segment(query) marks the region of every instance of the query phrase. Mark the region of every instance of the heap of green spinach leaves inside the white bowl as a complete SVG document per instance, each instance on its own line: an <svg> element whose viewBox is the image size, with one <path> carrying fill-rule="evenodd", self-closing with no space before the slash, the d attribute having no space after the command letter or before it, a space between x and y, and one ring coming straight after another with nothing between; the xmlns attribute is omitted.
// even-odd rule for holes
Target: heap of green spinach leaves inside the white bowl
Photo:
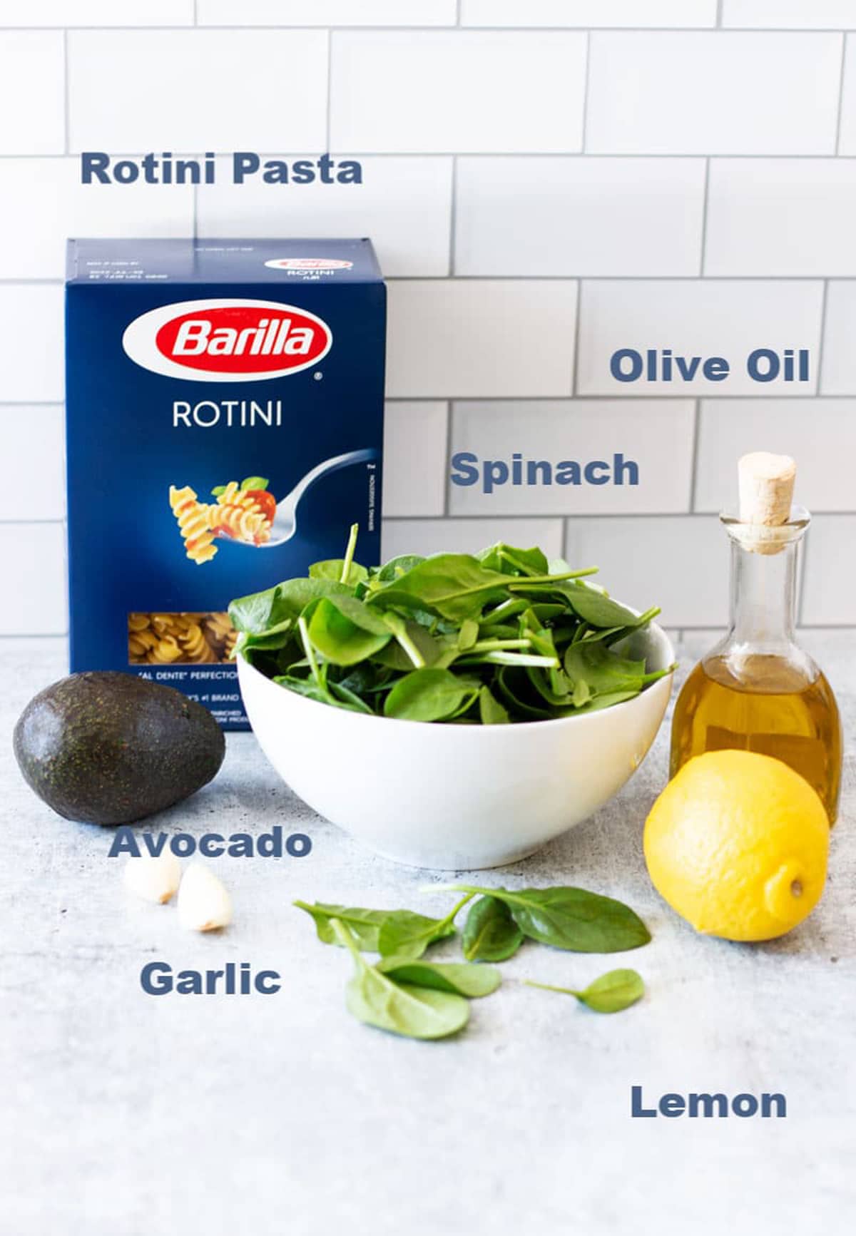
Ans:
<svg viewBox="0 0 856 1236"><path fill-rule="evenodd" d="M238 655L286 690L330 707L440 724L515 724L632 700L649 670L627 638L638 617L537 548L406 554L380 567L345 555L307 577L239 597ZM640 645L643 646L643 645Z"/></svg>

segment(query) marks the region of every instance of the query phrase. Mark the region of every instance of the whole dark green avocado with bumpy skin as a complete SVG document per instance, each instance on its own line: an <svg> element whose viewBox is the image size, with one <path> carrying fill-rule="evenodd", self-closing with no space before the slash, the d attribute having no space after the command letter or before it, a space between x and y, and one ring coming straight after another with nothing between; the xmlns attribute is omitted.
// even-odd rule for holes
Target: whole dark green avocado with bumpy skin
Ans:
<svg viewBox="0 0 856 1236"><path fill-rule="evenodd" d="M212 780L223 730L181 691L130 674L72 674L46 687L15 727L27 784L67 819L127 824Z"/></svg>

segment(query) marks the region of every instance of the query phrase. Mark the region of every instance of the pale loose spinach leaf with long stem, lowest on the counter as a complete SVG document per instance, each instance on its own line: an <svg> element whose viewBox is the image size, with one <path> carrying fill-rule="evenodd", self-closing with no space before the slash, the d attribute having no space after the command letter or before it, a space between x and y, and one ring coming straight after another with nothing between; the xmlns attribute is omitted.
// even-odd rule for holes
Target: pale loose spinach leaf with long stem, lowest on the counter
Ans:
<svg viewBox="0 0 856 1236"><path fill-rule="evenodd" d="M330 926L338 942L354 958L354 976L345 991L348 1011L354 1017L407 1038L445 1038L463 1030L470 1017L464 996L396 981L369 965L339 918L332 918Z"/></svg>

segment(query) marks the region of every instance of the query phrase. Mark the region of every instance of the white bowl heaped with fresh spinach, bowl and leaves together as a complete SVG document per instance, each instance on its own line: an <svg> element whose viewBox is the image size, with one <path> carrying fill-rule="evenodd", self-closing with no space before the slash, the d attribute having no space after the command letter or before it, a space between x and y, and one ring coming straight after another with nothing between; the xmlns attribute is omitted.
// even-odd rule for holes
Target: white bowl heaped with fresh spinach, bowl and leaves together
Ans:
<svg viewBox="0 0 856 1236"><path fill-rule="evenodd" d="M539 549L343 559L233 601L250 723L319 815L416 866L499 866L601 807L653 742L674 654Z"/></svg>

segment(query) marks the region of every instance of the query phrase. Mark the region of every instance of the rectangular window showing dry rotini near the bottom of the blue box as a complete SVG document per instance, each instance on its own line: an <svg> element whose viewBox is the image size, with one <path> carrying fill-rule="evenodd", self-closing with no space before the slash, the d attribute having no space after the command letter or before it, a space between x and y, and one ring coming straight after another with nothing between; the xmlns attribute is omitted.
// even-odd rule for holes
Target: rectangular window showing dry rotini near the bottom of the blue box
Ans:
<svg viewBox="0 0 856 1236"><path fill-rule="evenodd" d="M127 616L131 665L209 665L231 660L238 632L226 613Z"/></svg>

